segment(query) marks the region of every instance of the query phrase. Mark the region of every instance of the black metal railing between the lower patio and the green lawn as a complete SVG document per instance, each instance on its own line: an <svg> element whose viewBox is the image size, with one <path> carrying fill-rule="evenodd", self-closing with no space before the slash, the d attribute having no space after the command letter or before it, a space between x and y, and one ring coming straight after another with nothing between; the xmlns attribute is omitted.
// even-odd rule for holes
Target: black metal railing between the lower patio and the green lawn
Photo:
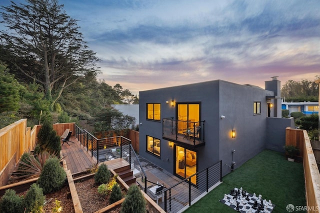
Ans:
<svg viewBox="0 0 320 213"><path fill-rule="evenodd" d="M164 210L166 212L177 212L186 205L191 205L191 201L203 192L208 192L209 188L222 180L222 161L198 171L191 176L181 180L175 185L164 189ZM191 182L191 178L196 178L196 184ZM185 190L185 188L188 190Z"/></svg>

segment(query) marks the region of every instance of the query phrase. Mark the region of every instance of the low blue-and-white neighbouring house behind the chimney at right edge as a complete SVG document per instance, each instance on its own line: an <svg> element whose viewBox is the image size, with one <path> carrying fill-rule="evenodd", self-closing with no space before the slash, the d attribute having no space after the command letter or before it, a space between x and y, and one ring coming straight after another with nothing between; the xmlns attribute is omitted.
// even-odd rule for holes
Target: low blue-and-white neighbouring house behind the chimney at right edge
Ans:
<svg viewBox="0 0 320 213"><path fill-rule="evenodd" d="M303 114L317 114L319 112L319 102L282 102L282 109L288 109L289 113L300 111Z"/></svg>

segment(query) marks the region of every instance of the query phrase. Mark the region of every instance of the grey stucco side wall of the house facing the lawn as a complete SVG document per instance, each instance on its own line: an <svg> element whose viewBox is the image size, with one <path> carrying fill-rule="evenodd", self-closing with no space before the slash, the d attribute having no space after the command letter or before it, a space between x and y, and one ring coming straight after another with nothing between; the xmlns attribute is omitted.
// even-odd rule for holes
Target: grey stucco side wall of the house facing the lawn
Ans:
<svg viewBox="0 0 320 213"><path fill-rule="evenodd" d="M272 91L248 85L239 85L220 81L220 115L225 118L220 122L219 156L222 160L222 175L255 156L265 148L267 103L265 96L273 95ZM260 101L260 114L253 114L253 102ZM231 138L231 130L235 138Z"/></svg>

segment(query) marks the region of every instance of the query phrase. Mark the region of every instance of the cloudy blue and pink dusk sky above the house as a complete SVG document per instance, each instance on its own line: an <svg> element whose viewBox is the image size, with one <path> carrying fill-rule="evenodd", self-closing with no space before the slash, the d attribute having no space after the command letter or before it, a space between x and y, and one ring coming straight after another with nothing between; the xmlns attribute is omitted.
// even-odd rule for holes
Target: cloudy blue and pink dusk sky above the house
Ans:
<svg viewBox="0 0 320 213"><path fill-rule="evenodd" d="M8 5L9 0L0 0ZM22 0L14 2L23 2ZM59 0L111 86L320 75L319 0Z"/></svg>

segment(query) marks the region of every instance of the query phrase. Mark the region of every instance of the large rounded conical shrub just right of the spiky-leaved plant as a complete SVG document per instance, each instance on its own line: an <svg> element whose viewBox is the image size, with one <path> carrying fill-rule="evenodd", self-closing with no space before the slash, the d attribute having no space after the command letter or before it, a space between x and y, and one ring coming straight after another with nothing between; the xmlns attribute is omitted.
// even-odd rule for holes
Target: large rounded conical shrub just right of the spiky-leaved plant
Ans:
<svg viewBox="0 0 320 213"><path fill-rule="evenodd" d="M47 194L61 188L65 177L66 173L60 166L59 159L53 157L45 161L37 183L43 189L43 193Z"/></svg>

